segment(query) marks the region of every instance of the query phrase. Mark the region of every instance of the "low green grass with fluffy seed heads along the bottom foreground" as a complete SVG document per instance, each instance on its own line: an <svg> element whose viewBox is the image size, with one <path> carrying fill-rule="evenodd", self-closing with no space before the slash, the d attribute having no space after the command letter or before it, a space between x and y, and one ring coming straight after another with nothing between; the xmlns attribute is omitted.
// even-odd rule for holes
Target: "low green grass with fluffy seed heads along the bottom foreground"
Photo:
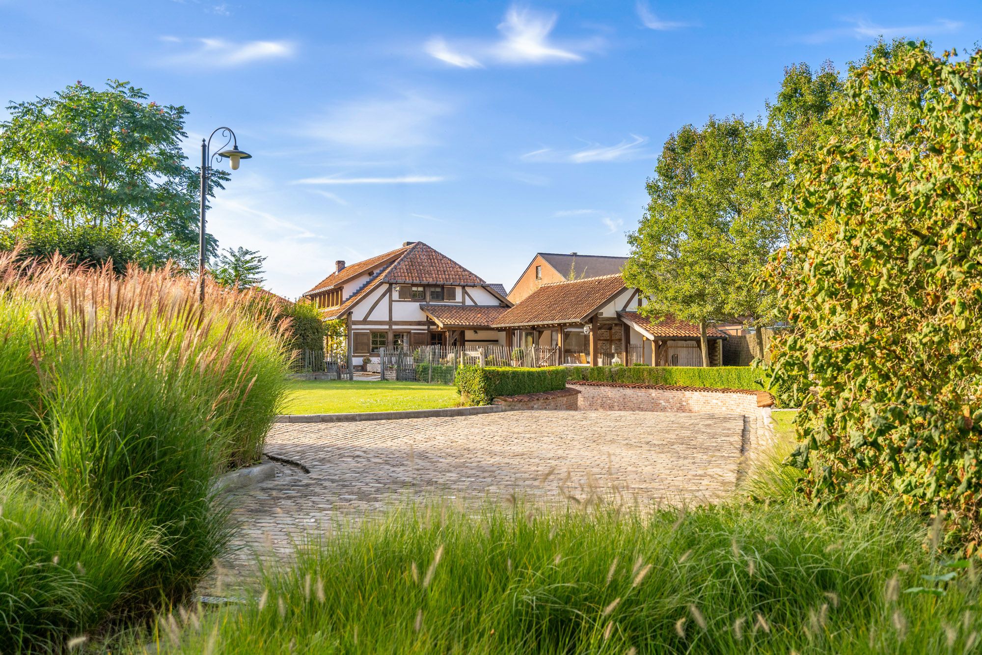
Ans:
<svg viewBox="0 0 982 655"><path fill-rule="evenodd" d="M267 567L241 608L161 618L154 638L211 653L966 652L976 572L932 558L926 533L887 508L409 506Z"/></svg>

